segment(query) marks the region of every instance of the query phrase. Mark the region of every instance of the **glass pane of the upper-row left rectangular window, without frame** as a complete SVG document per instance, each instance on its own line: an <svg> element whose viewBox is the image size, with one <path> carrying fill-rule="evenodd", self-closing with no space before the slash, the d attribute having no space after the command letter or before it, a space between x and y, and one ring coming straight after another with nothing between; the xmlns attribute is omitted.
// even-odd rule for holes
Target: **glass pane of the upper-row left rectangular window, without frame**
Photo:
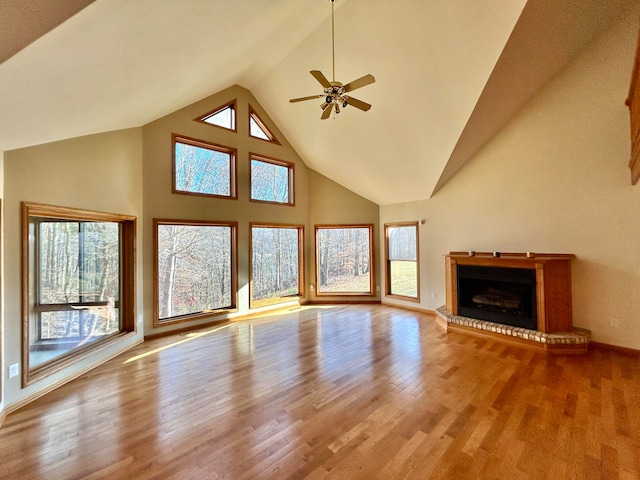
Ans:
<svg viewBox="0 0 640 480"><path fill-rule="evenodd" d="M174 155L177 191L231 196L231 153L176 141Z"/></svg>

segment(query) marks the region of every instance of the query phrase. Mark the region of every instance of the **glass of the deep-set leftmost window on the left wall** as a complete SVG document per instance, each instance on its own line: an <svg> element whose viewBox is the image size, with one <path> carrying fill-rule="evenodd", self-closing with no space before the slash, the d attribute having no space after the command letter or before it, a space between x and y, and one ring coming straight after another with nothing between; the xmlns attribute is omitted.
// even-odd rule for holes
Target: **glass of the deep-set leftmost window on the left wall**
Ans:
<svg viewBox="0 0 640 480"><path fill-rule="evenodd" d="M120 226L41 219L29 364L38 366L121 329Z"/></svg>

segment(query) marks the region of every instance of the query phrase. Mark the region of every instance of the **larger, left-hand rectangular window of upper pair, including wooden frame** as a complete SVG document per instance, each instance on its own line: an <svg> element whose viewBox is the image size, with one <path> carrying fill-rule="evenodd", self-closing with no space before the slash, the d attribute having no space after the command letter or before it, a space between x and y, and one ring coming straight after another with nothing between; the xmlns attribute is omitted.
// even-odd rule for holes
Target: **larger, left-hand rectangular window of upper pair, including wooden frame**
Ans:
<svg viewBox="0 0 640 480"><path fill-rule="evenodd" d="M173 191L236 198L236 151L174 135Z"/></svg>

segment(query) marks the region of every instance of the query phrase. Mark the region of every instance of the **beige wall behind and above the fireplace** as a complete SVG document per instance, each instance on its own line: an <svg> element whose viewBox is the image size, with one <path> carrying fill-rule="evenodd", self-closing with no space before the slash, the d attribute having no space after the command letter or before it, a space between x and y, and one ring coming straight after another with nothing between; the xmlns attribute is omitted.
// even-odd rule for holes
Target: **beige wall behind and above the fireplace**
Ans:
<svg viewBox="0 0 640 480"><path fill-rule="evenodd" d="M640 348L640 187L624 104L636 36L629 16L597 39L434 197L381 207L381 223L426 219L423 307L444 304L448 251L574 253L574 324Z"/></svg>

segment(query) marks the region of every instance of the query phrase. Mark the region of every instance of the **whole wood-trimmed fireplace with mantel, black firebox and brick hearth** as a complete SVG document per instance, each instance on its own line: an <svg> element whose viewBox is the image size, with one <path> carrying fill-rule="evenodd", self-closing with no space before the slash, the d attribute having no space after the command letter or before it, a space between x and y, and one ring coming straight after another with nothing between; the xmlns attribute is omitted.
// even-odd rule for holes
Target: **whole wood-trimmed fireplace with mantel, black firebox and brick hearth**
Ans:
<svg viewBox="0 0 640 480"><path fill-rule="evenodd" d="M590 334L573 327L572 254L450 252L445 330L524 344L547 353L584 353Z"/></svg>

